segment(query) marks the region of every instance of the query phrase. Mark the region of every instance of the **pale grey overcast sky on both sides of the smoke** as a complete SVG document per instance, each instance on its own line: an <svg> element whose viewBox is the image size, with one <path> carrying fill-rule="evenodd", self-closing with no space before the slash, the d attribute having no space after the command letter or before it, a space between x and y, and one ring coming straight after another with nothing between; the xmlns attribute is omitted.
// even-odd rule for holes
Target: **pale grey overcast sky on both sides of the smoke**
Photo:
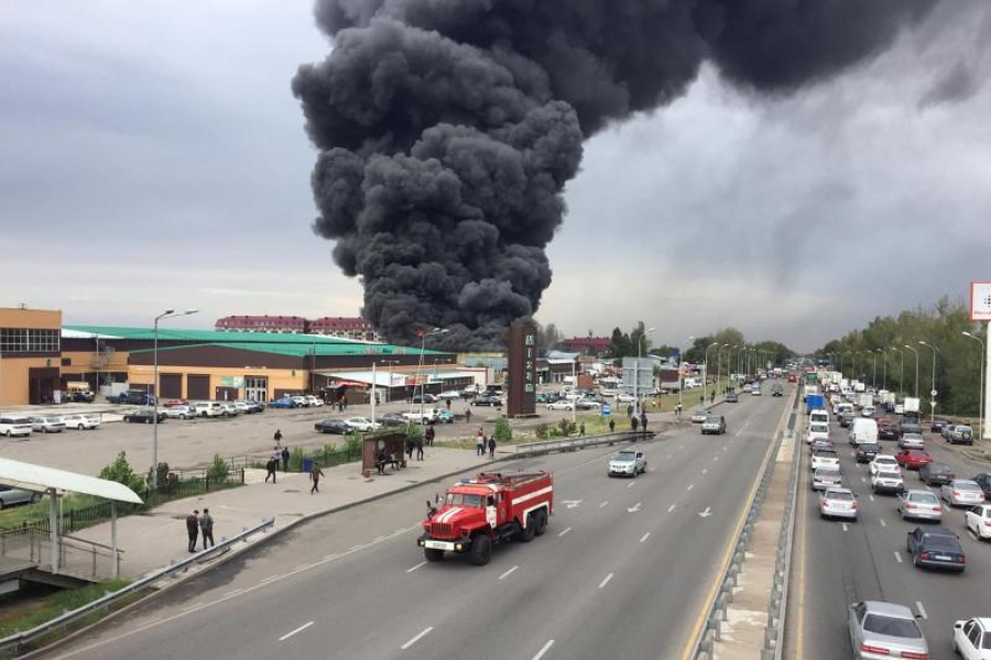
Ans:
<svg viewBox="0 0 991 660"><path fill-rule="evenodd" d="M991 279L991 3L949 6L801 94L707 68L589 141L538 320L643 319L657 343L736 326L803 351ZM309 0L0 0L0 306L358 314L311 231L290 91L328 48Z"/></svg>

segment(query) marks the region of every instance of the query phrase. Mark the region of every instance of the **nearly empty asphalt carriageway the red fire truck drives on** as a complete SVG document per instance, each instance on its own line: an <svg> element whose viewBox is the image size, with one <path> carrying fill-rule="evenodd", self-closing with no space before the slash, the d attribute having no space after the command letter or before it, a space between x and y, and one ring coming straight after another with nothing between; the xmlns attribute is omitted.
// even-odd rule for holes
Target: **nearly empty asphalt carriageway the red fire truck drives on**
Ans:
<svg viewBox="0 0 991 660"><path fill-rule="evenodd" d="M195 578L53 658L678 658L697 625L786 398L723 405L726 436L686 422L609 479L614 448L501 471L555 473L555 514L487 566L426 564L425 485L314 520Z"/></svg>

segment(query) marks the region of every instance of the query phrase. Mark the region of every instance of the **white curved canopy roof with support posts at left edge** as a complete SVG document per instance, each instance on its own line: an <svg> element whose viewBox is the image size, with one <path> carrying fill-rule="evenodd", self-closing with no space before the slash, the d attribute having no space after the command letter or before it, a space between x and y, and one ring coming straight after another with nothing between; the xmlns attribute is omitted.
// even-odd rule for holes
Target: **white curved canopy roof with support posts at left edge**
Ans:
<svg viewBox="0 0 991 660"><path fill-rule="evenodd" d="M48 494L48 529L52 541L52 573L58 573L58 495L85 493L110 501L110 537L113 553L113 578L119 575L120 553L117 548L117 503L142 504L138 494L123 484L106 479L56 470L34 463L0 459L0 484Z"/></svg>

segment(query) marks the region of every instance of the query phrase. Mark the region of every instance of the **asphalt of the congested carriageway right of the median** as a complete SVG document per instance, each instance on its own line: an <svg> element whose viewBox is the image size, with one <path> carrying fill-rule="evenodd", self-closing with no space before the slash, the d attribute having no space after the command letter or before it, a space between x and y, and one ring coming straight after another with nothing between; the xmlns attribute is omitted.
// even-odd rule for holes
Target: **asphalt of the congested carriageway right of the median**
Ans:
<svg viewBox="0 0 991 660"><path fill-rule="evenodd" d="M789 594L787 658L853 658L847 627L847 607L864 600L891 601L922 615L919 625L929 644L930 658L955 658L952 624L957 619L991 615L991 544L966 532L963 510L944 504L941 525L958 532L967 554L962 574L926 571L912 565L905 549L908 531L919 525L903 521L893 495L872 495L867 465L858 465L848 444L847 429L831 426L840 454L845 485L860 501L854 524L819 519L818 498L808 484L799 486L802 515L797 519L795 563ZM885 453L897 453L897 442L882 440ZM950 464L961 479L987 472L939 436L926 433L926 450L937 462ZM808 450L804 452L807 461ZM906 488L925 488L916 472L903 471ZM929 488L938 495L938 487Z"/></svg>

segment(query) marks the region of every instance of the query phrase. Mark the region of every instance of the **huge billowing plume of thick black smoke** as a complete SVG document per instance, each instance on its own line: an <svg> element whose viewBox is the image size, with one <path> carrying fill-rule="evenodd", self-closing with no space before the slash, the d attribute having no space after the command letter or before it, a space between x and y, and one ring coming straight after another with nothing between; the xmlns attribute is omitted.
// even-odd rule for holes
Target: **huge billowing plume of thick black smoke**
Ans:
<svg viewBox="0 0 991 660"><path fill-rule="evenodd" d="M934 2L318 0L334 50L293 80L319 150L314 229L390 340L439 326L449 348L499 345L551 283L584 139L705 61L760 92L834 76Z"/></svg>

